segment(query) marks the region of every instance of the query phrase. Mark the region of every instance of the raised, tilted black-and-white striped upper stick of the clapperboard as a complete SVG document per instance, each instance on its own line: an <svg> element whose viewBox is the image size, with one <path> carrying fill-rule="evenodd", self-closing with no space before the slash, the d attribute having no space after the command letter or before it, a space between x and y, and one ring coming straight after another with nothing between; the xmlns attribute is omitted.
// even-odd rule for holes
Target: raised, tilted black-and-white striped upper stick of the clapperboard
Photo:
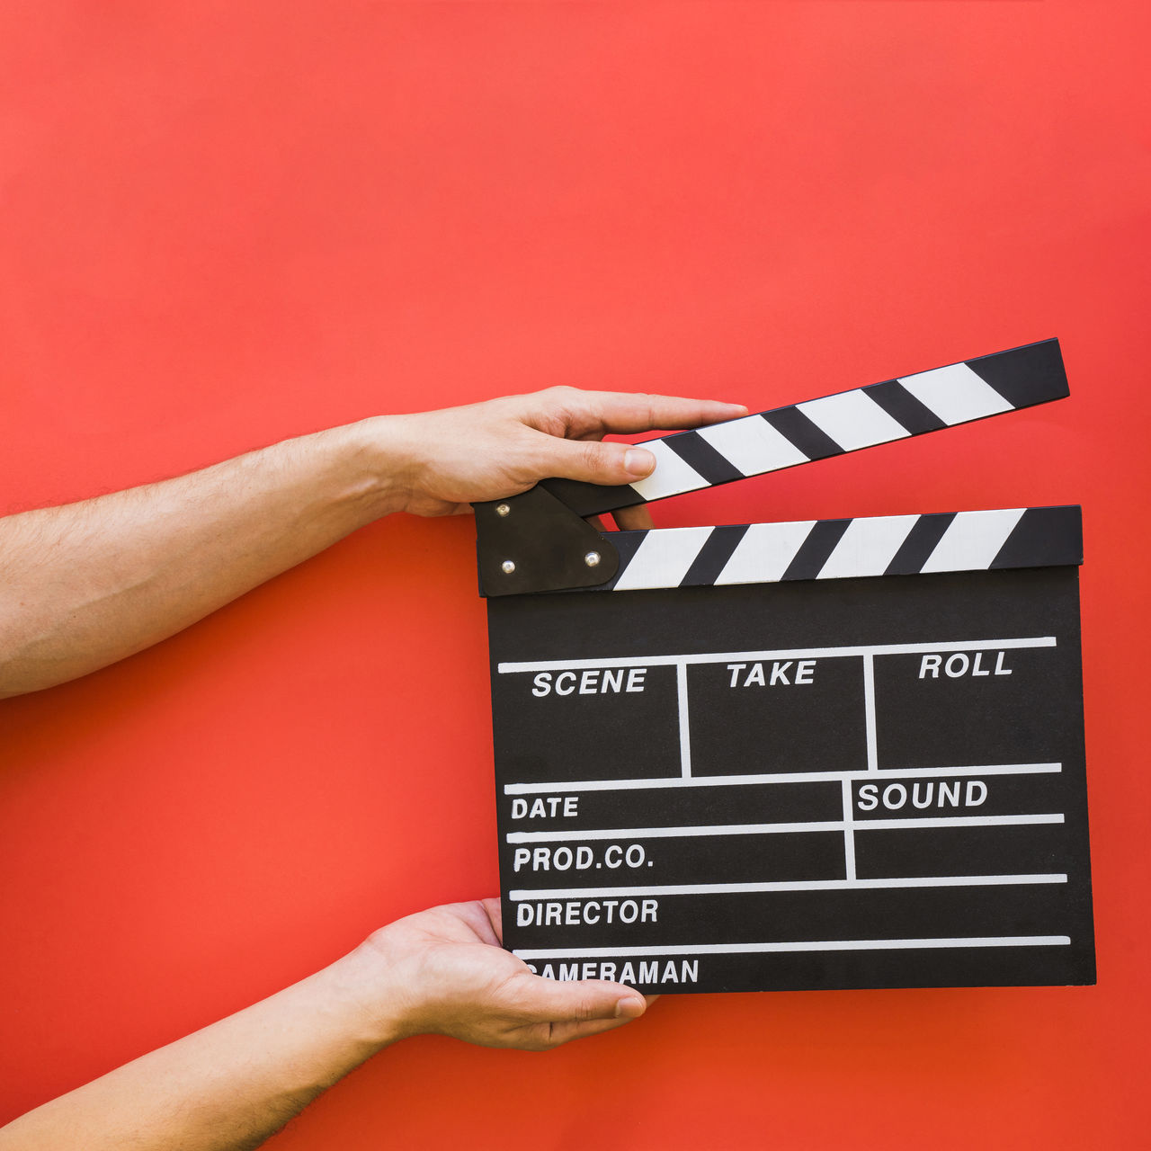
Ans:
<svg viewBox="0 0 1151 1151"><path fill-rule="evenodd" d="M1044 340L695 432L647 440L643 447L655 455L656 468L638 483L597 487L554 479L542 486L578 514L596 516L1067 395L1059 341Z"/></svg>

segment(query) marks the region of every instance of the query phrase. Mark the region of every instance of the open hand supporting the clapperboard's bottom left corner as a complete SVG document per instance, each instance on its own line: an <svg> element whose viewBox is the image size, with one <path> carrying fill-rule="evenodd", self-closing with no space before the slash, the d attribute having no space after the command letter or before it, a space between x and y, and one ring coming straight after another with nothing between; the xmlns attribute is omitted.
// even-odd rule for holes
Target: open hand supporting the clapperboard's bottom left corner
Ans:
<svg viewBox="0 0 1151 1151"><path fill-rule="evenodd" d="M501 940L498 899L433 907L369 936L355 955L381 1034L547 1051L619 1027L655 998L604 980L541 978Z"/></svg>

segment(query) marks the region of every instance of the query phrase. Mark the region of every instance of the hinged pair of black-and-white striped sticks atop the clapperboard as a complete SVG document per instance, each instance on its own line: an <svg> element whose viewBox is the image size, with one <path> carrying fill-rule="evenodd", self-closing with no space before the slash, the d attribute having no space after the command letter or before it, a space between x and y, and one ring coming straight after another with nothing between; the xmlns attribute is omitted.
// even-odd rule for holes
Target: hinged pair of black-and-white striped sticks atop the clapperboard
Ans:
<svg viewBox="0 0 1151 1151"><path fill-rule="evenodd" d="M883 516L602 534L582 517L1061 399L1057 340L643 441L646 480L544 480L477 504L480 592L692 587L1082 562L1078 508Z"/></svg>

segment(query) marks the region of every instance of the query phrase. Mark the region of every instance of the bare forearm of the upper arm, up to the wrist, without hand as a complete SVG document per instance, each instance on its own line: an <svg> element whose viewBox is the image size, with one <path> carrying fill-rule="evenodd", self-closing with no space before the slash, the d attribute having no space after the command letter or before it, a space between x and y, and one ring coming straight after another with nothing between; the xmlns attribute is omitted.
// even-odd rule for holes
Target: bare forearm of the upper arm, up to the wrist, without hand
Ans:
<svg viewBox="0 0 1151 1151"><path fill-rule="evenodd" d="M0 519L0 696L131 655L401 506L387 426Z"/></svg>

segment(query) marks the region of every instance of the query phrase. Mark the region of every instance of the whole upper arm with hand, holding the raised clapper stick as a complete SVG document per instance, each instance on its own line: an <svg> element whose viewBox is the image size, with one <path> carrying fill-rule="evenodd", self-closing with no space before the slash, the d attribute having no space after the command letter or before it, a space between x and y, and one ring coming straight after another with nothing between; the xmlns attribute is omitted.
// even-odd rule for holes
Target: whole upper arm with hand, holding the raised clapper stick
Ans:
<svg viewBox="0 0 1151 1151"><path fill-rule="evenodd" d="M0 698L166 639L389 511L466 511L549 475L630 483L650 474L655 457L597 442L604 434L744 412L552 388L361 420L175 480L0 519ZM633 516L628 526L649 521Z"/></svg>

